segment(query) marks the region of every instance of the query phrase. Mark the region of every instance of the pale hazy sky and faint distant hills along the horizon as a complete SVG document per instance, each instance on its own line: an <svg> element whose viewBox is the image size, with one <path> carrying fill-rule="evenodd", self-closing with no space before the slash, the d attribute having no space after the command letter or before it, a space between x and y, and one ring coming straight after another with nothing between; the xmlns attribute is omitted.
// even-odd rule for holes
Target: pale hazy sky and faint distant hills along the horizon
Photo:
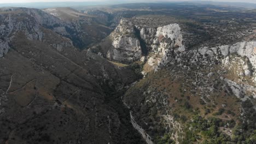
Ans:
<svg viewBox="0 0 256 144"><path fill-rule="evenodd" d="M7 3L6 3L7 2ZM125 4L125 3L152 3L152 2L195 2L197 4L213 4L213 5L229 5L230 7L239 7L246 9L256 9L256 2L247 0L237 3L238 0L1 0L0 7L26 7L26 8L55 8L55 7L81 7L89 5L112 5L112 4ZM224 3L222 3L224 2ZM234 2L234 3L232 3ZM246 3L247 2L247 3ZM251 2L251 3L250 3Z"/></svg>

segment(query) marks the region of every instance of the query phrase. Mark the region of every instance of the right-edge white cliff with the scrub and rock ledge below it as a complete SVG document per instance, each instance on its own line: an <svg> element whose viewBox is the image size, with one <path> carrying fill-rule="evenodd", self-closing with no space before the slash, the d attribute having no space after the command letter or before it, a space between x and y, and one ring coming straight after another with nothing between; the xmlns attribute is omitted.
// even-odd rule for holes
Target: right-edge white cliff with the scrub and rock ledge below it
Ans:
<svg viewBox="0 0 256 144"><path fill-rule="evenodd" d="M222 77L221 80L231 88L232 93L234 93L237 98L245 101L250 95L252 95L253 98L256 97L254 88L256 83L255 44L255 41L243 41L233 45L211 48L201 47L198 50L189 51L190 54L187 53L186 56L191 55L189 61L197 65L208 64L212 66L214 63L220 63L221 68L218 70L218 74L226 77ZM182 60L180 59L179 61ZM213 73L209 73L208 77L212 75Z"/></svg>

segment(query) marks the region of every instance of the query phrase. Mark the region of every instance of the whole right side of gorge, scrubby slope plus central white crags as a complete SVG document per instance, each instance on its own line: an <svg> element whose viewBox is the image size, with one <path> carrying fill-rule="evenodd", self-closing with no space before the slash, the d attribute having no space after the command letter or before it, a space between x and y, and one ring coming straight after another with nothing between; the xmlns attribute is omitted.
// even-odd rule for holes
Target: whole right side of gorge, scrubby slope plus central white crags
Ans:
<svg viewBox="0 0 256 144"><path fill-rule="evenodd" d="M166 25L147 17L122 20L110 36L92 51L112 61L142 64L144 78L123 99L133 127L147 143L253 143L255 41L235 43L237 38L210 47L197 40L201 44L190 47L185 41L193 35L184 23ZM135 59L131 43L115 47L125 37L139 42L139 53L142 47L148 53ZM108 55L109 50L116 52Z"/></svg>

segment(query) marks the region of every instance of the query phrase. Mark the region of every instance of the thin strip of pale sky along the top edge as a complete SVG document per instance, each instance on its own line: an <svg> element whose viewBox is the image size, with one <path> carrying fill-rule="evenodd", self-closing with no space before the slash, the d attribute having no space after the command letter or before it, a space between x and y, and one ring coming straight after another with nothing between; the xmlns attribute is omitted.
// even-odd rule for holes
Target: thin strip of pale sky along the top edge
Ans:
<svg viewBox="0 0 256 144"><path fill-rule="evenodd" d="M30 3L30 2L106 2L111 0L0 0L0 3ZM122 0L120 0L121 2ZM130 0L131 2L137 2L135 0ZM151 0L152 2L156 2L158 0ZM168 1L168 0L165 0ZM191 1L191 0L169 0L169 1ZM201 0L207 1L207 0ZM208 0L209 1L209 0ZM248 2L248 3L256 3L256 0L211 0L216 2ZM149 1L145 1L149 2Z"/></svg>

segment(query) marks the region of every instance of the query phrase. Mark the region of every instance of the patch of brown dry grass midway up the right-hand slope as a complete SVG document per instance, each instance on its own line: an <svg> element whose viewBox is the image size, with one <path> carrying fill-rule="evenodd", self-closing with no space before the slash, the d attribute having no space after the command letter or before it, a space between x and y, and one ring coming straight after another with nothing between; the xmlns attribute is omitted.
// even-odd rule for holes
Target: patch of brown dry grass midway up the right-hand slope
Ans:
<svg viewBox="0 0 256 144"><path fill-rule="evenodd" d="M210 109L211 112L205 115L206 117L218 117L223 120L230 120L237 119L237 116L240 115L240 103L237 103L239 100L234 95L228 95L224 90L214 92L207 97L211 102L202 105L200 104L200 99L204 95L200 94L201 91L199 87L195 87L192 84L193 80L188 80L185 76L173 77L169 75L169 73L170 72L167 70L161 70L155 73L151 84L153 87L157 88L159 92L166 91L164 94L167 94L169 97L168 100L173 113L191 118L193 113L191 113L190 110L186 110L184 107L184 103L187 101L193 106L193 110L198 109L200 111L200 115L205 115L206 109ZM149 75L148 79L152 79L152 76ZM140 85L143 85L143 83L144 82L140 83ZM137 86L139 86L139 83L137 83ZM194 89L197 89L195 94L191 93L191 90ZM222 104L226 104L223 114L219 116L214 115L219 109L223 108ZM235 116L228 114L228 110L234 112Z"/></svg>

